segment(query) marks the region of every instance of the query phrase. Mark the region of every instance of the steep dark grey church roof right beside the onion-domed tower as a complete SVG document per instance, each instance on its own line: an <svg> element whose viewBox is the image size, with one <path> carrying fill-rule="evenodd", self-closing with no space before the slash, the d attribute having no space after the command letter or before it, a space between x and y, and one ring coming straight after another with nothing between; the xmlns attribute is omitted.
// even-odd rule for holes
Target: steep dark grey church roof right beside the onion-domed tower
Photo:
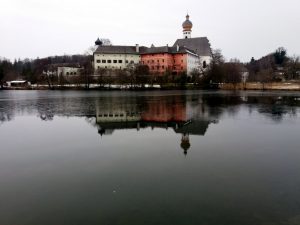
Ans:
<svg viewBox="0 0 300 225"><path fill-rule="evenodd" d="M199 56L212 56L207 37L177 39L173 47L177 45L192 49Z"/></svg>

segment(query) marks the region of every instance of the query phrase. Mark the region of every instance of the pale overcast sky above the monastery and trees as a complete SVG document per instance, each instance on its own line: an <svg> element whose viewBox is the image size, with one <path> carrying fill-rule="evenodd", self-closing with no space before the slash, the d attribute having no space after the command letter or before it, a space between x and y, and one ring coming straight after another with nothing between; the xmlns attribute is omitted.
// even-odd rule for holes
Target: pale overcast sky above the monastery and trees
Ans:
<svg viewBox="0 0 300 225"><path fill-rule="evenodd" d="M283 46L300 54L299 0L0 0L0 56L82 54L97 37L115 45L173 45L190 14L192 37L226 59Z"/></svg>

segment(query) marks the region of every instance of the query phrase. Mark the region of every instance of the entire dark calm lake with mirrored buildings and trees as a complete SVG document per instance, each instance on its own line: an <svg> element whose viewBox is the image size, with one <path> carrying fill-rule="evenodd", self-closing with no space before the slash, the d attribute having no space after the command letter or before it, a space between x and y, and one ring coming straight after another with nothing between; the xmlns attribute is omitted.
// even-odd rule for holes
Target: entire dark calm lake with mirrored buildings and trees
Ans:
<svg viewBox="0 0 300 225"><path fill-rule="evenodd" d="M0 92L1 225L299 225L300 93Z"/></svg>

